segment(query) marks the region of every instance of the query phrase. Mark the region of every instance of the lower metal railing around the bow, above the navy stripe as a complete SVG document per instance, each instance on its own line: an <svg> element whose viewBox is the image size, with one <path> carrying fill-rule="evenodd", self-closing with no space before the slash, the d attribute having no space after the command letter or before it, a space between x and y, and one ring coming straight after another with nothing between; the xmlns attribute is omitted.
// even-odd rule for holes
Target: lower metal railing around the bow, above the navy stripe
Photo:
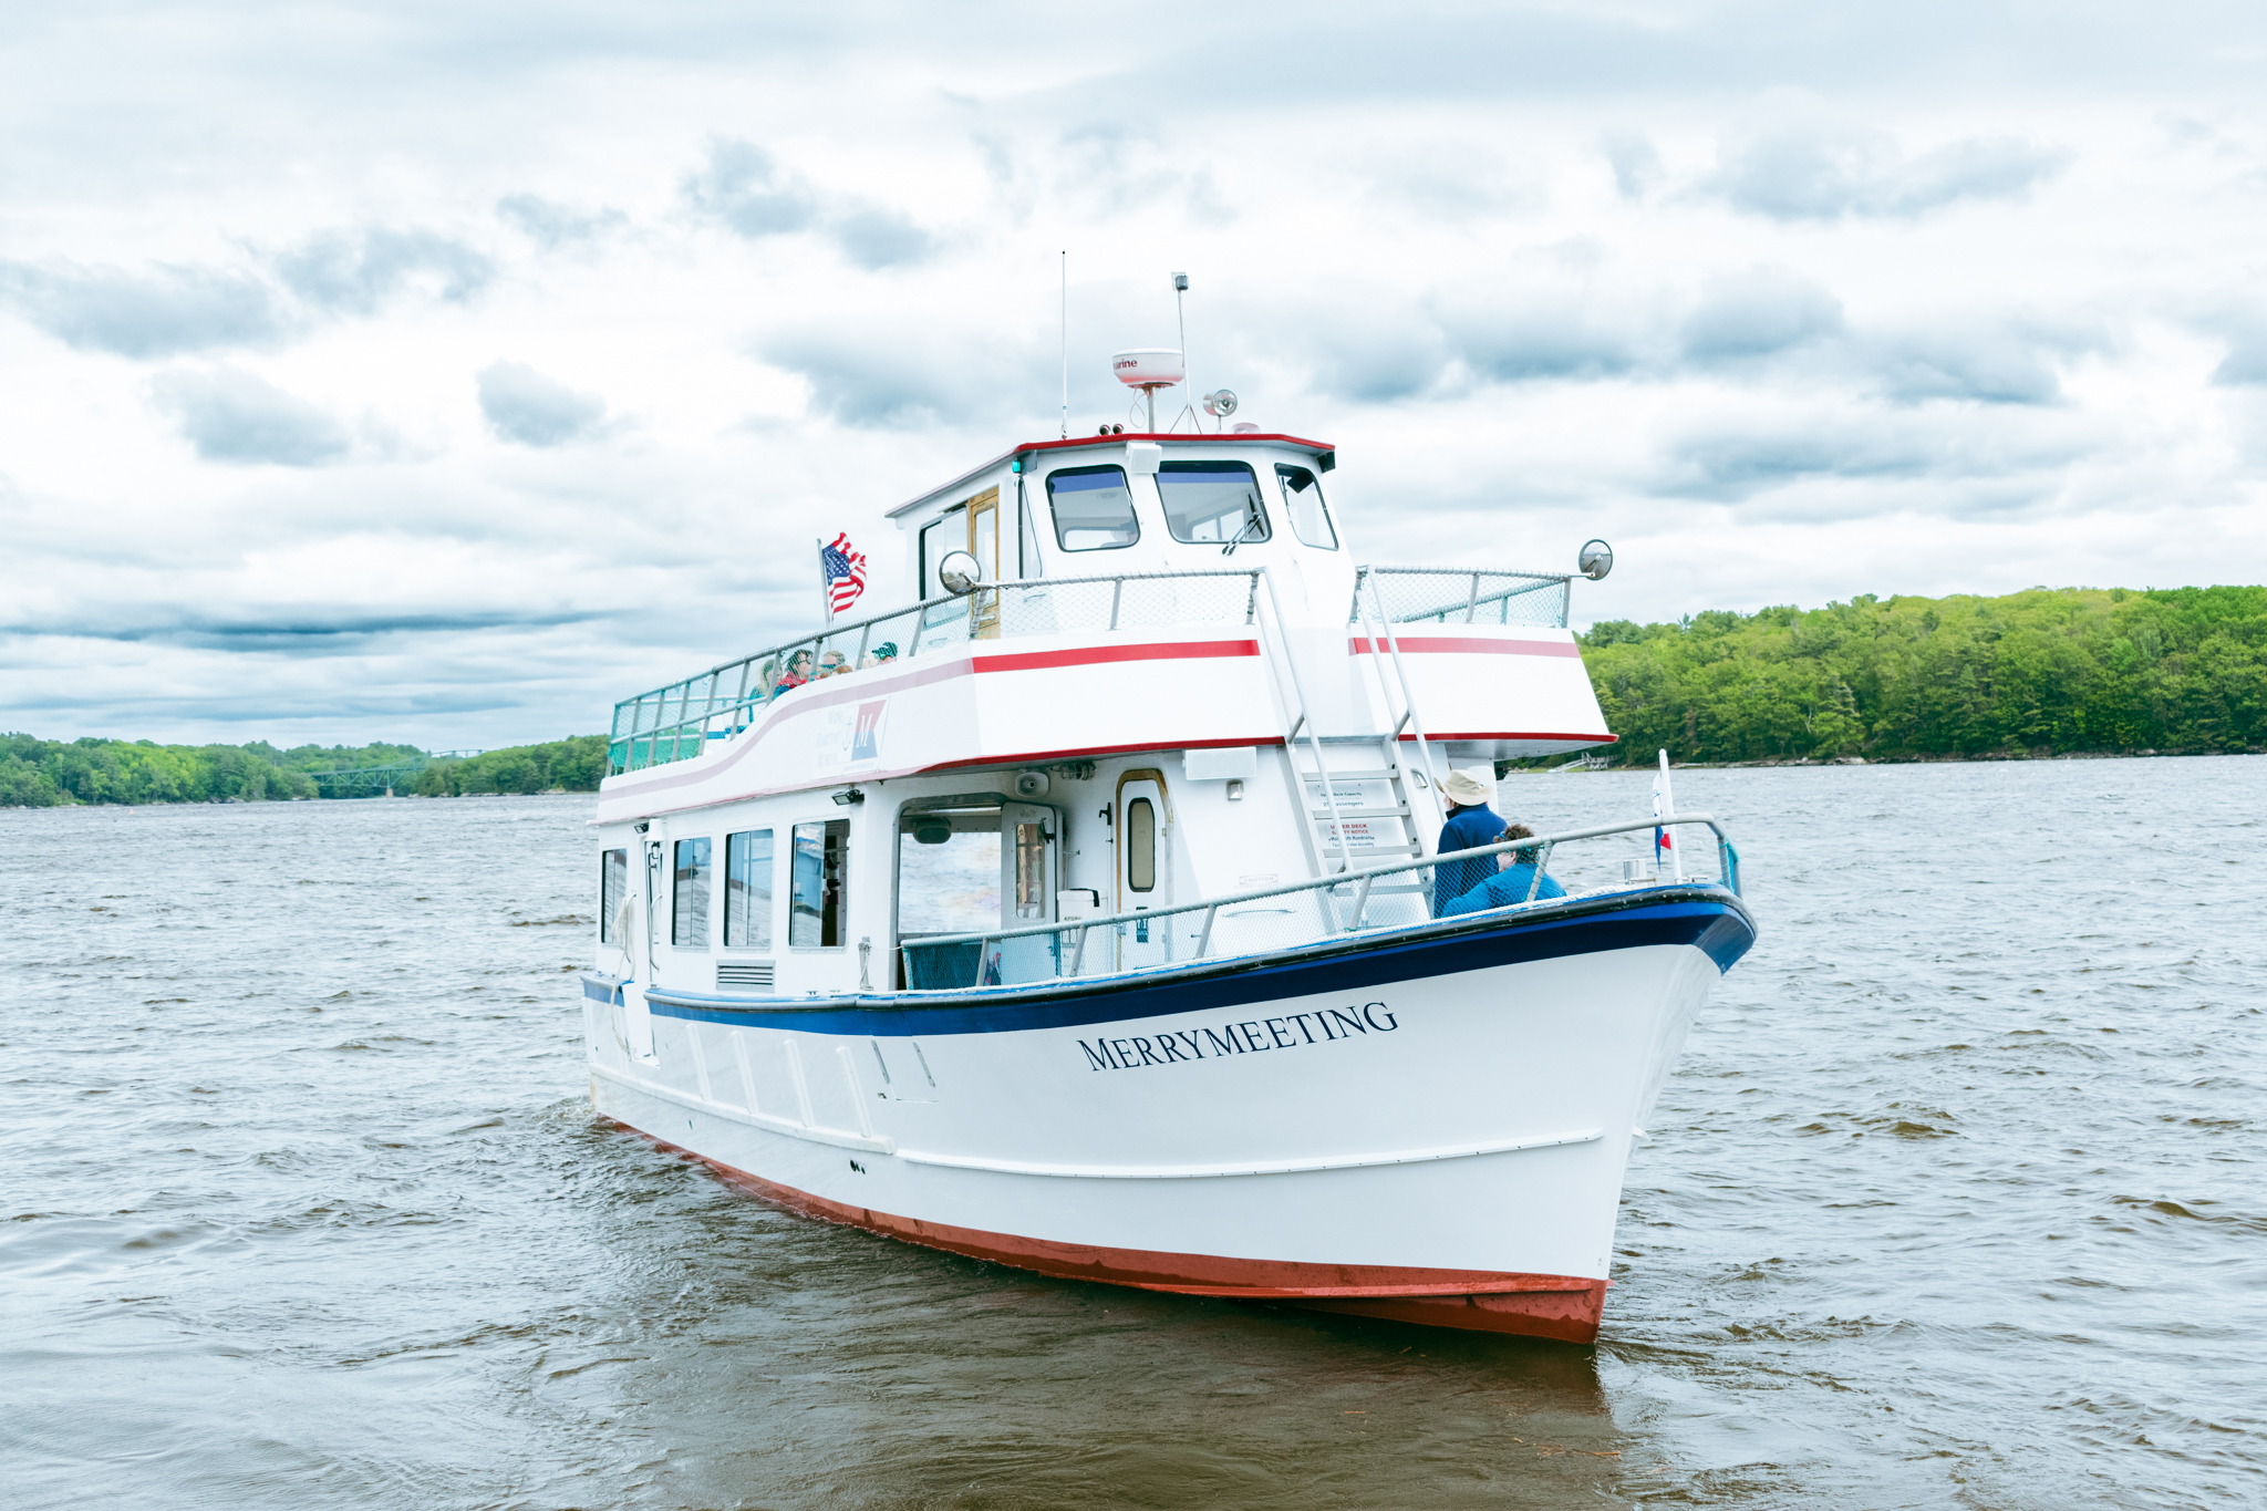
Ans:
<svg viewBox="0 0 2267 1511"><path fill-rule="evenodd" d="M1739 895L1739 852L1723 825L1709 813L1669 813L1539 834L1394 865L1344 870L1317 881L1270 886L1170 908L914 938L902 940L898 949L905 956L905 983L911 990L1031 985L1226 956L1265 956L1351 933L1430 922L1433 874L1442 865L1485 861L1485 874L1478 879L1485 881L1496 872L1494 856L1521 852L1519 859L1532 863L1528 895L1503 908L1517 911L1537 902L1555 847L1616 834L1675 831L1678 827L1705 827L1716 836L1716 874L1691 877L1691 881L1712 881ZM1648 850L1664 854L1657 843ZM1675 856L1678 852L1666 854ZM1644 865L1648 863L1639 861L1632 868L1630 861L1623 861L1621 883L1635 881ZM1666 872L1671 861L1659 865Z"/></svg>

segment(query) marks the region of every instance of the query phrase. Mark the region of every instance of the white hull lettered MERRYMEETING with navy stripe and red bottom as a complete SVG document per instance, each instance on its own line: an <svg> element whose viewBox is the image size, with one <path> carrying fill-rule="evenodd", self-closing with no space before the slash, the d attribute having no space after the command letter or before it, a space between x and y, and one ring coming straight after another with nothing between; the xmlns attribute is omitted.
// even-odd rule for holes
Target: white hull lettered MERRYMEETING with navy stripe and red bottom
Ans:
<svg viewBox="0 0 2267 1511"><path fill-rule="evenodd" d="M596 1110L798 1212L1018 1269L1589 1341L1630 1142L1752 942L1650 888L1050 990L594 983Z"/></svg>

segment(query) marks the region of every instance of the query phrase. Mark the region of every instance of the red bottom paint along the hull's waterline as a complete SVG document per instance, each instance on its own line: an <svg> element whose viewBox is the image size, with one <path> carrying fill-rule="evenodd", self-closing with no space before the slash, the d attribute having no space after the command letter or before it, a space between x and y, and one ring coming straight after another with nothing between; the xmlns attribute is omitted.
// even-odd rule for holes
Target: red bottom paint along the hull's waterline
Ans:
<svg viewBox="0 0 2267 1511"><path fill-rule="evenodd" d="M621 1124L628 1126L628 1124ZM1156 1253L1147 1248L1099 1248L1090 1244L1052 1244L1013 1232L954 1228L918 1217L898 1217L871 1207L850 1207L825 1196L778 1185L719 1160L655 1139L662 1149L701 1160L732 1185L805 1217L846 1223L905 1239L925 1248L991 1260L1013 1269L1056 1275L1059 1280L1095 1280L1140 1291L1174 1291L1179 1296L1220 1296L1229 1300L1272 1300L1317 1312L1351 1312L1383 1316L1396 1323L1428 1328L1464 1328L1469 1332L1508 1332L1562 1343L1594 1343L1598 1316L1605 1312L1607 1280L1578 1275L1523 1275L1474 1269L1419 1269L1403 1264L1308 1264L1299 1260L1229 1260L1222 1255Z"/></svg>

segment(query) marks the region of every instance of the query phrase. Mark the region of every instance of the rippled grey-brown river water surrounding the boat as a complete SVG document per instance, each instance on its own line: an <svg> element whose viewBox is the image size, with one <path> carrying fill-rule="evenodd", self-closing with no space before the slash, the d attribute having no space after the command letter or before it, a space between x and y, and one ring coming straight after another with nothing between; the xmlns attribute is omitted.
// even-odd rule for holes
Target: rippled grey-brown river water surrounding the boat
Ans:
<svg viewBox="0 0 2267 1511"><path fill-rule="evenodd" d="M596 1124L587 800L0 813L7 1502L2267 1500L2267 759L1678 797L1764 940L1596 1350L1038 1280Z"/></svg>

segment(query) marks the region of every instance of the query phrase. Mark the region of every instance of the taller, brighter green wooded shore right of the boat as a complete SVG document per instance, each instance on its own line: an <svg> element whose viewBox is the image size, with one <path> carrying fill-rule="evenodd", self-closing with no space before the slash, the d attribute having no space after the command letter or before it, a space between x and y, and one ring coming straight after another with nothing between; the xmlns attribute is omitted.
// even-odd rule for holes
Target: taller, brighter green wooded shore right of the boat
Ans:
<svg viewBox="0 0 2267 1511"><path fill-rule="evenodd" d="M1639 763L2267 745L2267 587L1861 594L1580 639Z"/></svg>

